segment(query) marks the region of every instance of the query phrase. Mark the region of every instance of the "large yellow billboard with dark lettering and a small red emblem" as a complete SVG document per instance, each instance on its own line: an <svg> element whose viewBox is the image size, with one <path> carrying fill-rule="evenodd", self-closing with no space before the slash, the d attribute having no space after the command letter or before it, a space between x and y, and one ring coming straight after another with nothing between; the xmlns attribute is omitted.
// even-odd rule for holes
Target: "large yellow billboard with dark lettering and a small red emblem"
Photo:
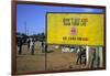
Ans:
<svg viewBox="0 0 110 76"><path fill-rule="evenodd" d="M47 13L47 44L103 45L103 14Z"/></svg>

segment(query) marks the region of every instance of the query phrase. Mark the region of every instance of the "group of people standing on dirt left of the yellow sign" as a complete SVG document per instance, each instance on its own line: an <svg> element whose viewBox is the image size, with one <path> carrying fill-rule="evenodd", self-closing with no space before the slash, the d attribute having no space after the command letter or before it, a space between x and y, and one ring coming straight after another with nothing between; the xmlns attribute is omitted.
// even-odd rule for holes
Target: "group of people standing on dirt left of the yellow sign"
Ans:
<svg viewBox="0 0 110 76"><path fill-rule="evenodd" d="M28 44L28 51L31 51L31 54L34 55L35 39L28 39L26 44ZM18 42L19 54L22 54L22 46L23 46L23 42L22 42L22 39L20 39L20 41ZM41 48L42 48L42 53L45 53L45 42L44 41L41 42Z"/></svg>

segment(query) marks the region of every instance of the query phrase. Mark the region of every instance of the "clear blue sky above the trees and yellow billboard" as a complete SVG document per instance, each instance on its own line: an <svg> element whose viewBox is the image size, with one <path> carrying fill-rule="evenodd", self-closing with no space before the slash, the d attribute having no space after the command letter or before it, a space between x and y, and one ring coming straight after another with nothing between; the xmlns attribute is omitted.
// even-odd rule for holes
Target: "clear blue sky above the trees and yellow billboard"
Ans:
<svg viewBox="0 0 110 76"><path fill-rule="evenodd" d="M16 4L16 32L33 35L45 33L46 12L102 13L102 9ZM26 31L25 31L26 30Z"/></svg>

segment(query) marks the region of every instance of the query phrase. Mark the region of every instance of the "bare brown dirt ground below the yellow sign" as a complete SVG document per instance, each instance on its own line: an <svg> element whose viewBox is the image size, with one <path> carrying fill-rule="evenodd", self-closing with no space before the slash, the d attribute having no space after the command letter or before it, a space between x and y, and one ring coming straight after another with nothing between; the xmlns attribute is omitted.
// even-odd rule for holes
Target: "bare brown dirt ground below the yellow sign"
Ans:
<svg viewBox="0 0 110 76"><path fill-rule="evenodd" d="M53 52L41 52L41 43L35 43L35 53L31 55L31 51L28 50L28 45L23 45L22 54L18 54L16 68L18 73L28 72L44 72L45 63L46 70L67 70L67 69L80 69L86 68L85 64L76 65L77 55L73 53L63 53L59 48Z"/></svg>

